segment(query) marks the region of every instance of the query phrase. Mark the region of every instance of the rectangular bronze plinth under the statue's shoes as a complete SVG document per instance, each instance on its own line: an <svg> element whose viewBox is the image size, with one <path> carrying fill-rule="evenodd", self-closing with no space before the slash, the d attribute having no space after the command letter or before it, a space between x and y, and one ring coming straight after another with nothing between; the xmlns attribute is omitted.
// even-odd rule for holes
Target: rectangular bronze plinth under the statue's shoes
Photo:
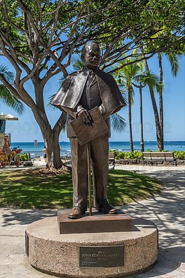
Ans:
<svg viewBox="0 0 185 278"><path fill-rule="evenodd" d="M69 219L66 214L58 213L60 234L106 233L131 231L132 219L126 214L105 214Z"/></svg>

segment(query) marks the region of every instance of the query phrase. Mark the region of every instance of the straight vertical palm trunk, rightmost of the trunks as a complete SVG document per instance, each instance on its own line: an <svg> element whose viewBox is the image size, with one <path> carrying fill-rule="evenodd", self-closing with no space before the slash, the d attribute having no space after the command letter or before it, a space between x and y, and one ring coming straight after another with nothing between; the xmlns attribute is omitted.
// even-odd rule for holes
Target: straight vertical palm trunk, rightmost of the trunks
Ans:
<svg viewBox="0 0 185 278"><path fill-rule="evenodd" d="M159 114L160 114L160 127L161 127L161 150L164 150L164 118L163 118L163 68L162 68L162 56L158 53L159 72L160 72L160 91L159 91Z"/></svg>

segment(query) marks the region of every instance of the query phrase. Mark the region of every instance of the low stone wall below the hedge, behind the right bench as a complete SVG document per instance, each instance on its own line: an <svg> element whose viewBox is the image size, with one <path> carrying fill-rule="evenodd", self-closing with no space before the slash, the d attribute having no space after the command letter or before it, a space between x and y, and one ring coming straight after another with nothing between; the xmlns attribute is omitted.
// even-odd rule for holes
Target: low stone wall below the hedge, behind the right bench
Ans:
<svg viewBox="0 0 185 278"><path fill-rule="evenodd" d="M123 164L123 165L132 165L132 164L141 164L141 165L173 165L171 161L143 161L142 159L116 159L116 164ZM177 165L185 165L185 160L176 160ZM175 165L175 163L174 163Z"/></svg>

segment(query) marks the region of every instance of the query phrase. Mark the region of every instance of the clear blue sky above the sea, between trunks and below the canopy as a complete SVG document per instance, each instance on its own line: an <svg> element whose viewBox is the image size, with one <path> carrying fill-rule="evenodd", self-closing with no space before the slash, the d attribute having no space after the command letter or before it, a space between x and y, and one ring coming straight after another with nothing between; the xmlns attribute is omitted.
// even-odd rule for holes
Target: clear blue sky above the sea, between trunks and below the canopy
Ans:
<svg viewBox="0 0 185 278"><path fill-rule="evenodd" d="M150 70L159 74L157 57L148 60ZM7 64L10 70L13 70L9 61L0 56L0 64ZM170 65L165 56L163 56L163 74L165 88L163 93L164 101L164 140L165 141L183 141L184 140L184 105L185 105L185 57L180 58L180 69L176 77L173 77L170 71ZM48 103L48 97L55 94L58 90L58 78L60 74L49 80L44 88L44 100ZM33 96L33 86L30 81L27 82L25 88ZM156 94L158 103L158 95ZM1 101L1 100L0 100ZM154 122L154 113L150 99L149 89L147 87L143 90L143 118L144 118L144 140L156 141L156 131ZM17 113L12 109L2 104L0 106L0 113L11 113L17 116ZM51 110L47 108L47 114L52 126L54 126L60 111ZM128 109L123 108L120 115L124 117L128 123ZM7 132L12 133L12 142L43 142L42 135L37 125L34 116L29 107L25 106L25 112L22 116L18 116L19 121L10 121L7 124ZM132 107L132 128L133 141L140 141L140 104L138 89L135 90L134 105ZM111 141L129 141L128 124L124 132L112 132ZM68 141L65 133L60 134L60 141Z"/></svg>

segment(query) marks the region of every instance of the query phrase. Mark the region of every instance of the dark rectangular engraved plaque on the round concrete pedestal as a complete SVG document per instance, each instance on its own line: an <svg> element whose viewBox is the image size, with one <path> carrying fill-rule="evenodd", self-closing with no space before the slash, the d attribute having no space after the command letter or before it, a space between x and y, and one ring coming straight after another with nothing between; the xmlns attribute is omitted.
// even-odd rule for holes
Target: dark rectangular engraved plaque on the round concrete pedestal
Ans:
<svg viewBox="0 0 185 278"><path fill-rule="evenodd" d="M80 267L115 267L124 265L124 245L80 246Z"/></svg>

